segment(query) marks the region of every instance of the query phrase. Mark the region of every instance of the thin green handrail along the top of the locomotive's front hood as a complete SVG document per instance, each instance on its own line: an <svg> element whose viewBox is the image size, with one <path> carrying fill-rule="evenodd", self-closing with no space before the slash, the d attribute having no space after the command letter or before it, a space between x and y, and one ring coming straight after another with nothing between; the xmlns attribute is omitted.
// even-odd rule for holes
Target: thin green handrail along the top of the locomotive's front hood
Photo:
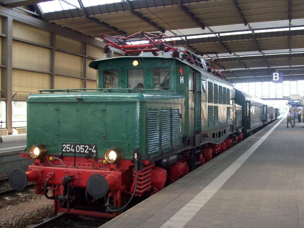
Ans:
<svg viewBox="0 0 304 228"><path fill-rule="evenodd" d="M127 91L127 92L175 92L174 90L155 90L155 89L123 89L123 88L97 88L97 89L91 89L91 88L79 88L79 89L40 89L38 90L40 93L42 92L80 92L80 90L97 90L96 92L111 92L111 91Z"/></svg>

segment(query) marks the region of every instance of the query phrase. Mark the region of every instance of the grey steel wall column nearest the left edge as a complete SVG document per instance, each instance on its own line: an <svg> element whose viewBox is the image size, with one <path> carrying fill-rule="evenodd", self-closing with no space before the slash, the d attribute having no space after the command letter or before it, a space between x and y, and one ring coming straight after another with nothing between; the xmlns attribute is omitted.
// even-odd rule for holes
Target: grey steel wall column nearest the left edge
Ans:
<svg viewBox="0 0 304 228"><path fill-rule="evenodd" d="M1 63L6 67L1 68L1 96L6 100L6 128L8 134L13 133L13 18L2 18L2 33L6 34L6 37L2 37L2 53Z"/></svg>

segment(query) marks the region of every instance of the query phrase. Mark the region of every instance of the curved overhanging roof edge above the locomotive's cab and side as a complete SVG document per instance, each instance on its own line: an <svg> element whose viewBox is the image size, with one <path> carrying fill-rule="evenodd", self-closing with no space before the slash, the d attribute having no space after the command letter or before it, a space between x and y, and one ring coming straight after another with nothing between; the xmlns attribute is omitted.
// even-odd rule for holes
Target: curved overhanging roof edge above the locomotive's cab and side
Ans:
<svg viewBox="0 0 304 228"><path fill-rule="evenodd" d="M165 56L119 56L119 57L112 57L112 58L104 58L104 59L100 59L100 60L94 60L92 61L90 64L89 64L89 67L91 68L94 68L94 69L98 69L98 63L99 62L102 62L102 61L107 61L107 60L113 60L113 59L119 59L119 58L163 58L163 59L174 59L176 61L180 61L181 63L184 63L192 68L194 68L196 71L200 71L202 72L202 75L207 77L207 78L210 78L212 79L213 81L217 81L217 82L220 82L220 83L223 83L223 84L226 84L226 85L229 85L231 87L233 87L233 85L229 82L229 81L226 81L224 79L221 79L219 77L216 77L215 75L203 70L202 68L200 67L197 67L195 64L191 64L191 63L188 63L188 62L185 62L185 61L182 61L180 59L177 59L177 58L173 58L173 57L165 57Z"/></svg>

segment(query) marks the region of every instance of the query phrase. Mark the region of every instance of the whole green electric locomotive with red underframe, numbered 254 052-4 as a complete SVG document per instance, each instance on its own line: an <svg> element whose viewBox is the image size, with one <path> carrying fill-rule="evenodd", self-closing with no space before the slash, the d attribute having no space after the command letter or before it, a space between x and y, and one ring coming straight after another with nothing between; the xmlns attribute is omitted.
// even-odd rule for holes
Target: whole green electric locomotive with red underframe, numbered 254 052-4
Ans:
<svg viewBox="0 0 304 228"><path fill-rule="evenodd" d="M54 200L56 211L114 217L231 147L231 135L242 128L233 85L159 34L144 35L148 48L125 37L104 48L105 57L108 45L140 56L90 63L99 89L28 97L21 156L34 163L27 172L10 172L15 190L35 182L35 192ZM172 57L163 56L168 51Z"/></svg>

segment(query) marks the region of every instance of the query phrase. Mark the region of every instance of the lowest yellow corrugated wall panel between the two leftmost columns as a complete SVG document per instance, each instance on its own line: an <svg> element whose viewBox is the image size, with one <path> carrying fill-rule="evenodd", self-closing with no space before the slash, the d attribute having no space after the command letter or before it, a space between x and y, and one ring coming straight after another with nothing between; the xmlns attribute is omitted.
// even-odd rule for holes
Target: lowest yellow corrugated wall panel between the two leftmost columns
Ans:
<svg viewBox="0 0 304 228"><path fill-rule="evenodd" d="M30 71L13 70L13 100L26 100L30 93L50 89L50 75Z"/></svg>

